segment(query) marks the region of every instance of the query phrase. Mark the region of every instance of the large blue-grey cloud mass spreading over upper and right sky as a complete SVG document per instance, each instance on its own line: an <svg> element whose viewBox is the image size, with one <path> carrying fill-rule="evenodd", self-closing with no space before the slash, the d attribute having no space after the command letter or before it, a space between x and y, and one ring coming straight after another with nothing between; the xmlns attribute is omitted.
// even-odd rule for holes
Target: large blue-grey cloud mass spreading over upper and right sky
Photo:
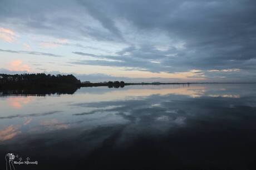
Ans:
<svg viewBox="0 0 256 170"><path fill-rule="evenodd" d="M15 33L67 39L43 41L45 48L70 46L75 54L97 59L72 60L73 64L168 73L197 69L209 78L252 81L256 72L255 9L255 1L243 0L4 0L0 2L0 21ZM4 34L12 34L5 29ZM110 52L101 54L97 42L104 43ZM114 48L114 44L118 46ZM92 48L96 52L91 52Z"/></svg>

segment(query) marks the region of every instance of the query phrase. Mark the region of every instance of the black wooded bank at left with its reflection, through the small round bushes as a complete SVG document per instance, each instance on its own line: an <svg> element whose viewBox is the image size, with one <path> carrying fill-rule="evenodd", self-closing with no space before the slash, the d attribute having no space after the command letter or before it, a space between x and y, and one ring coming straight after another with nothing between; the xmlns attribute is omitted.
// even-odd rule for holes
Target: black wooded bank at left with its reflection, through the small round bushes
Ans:
<svg viewBox="0 0 256 170"><path fill-rule="evenodd" d="M72 74L0 74L0 95L46 95L73 94L80 87L107 86L109 88L123 88L124 81L109 81L104 83L81 82Z"/></svg>

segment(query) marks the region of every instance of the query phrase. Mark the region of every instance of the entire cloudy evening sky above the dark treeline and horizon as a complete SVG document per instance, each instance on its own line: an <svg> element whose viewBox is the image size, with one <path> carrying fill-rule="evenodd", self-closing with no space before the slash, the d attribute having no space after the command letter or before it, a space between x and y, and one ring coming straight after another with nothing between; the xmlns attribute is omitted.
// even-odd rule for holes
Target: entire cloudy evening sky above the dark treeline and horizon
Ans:
<svg viewBox="0 0 256 170"><path fill-rule="evenodd" d="M256 82L255 0L0 0L0 73Z"/></svg>

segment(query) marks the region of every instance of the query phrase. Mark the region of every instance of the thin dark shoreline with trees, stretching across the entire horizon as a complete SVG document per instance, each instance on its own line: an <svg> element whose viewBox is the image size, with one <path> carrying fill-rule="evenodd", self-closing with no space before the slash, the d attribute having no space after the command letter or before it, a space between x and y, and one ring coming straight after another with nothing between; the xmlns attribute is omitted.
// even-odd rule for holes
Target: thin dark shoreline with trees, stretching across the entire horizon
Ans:
<svg viewBox="0 0 256 170"><path fill-rule="evenodd" d="M256 82L186 82L186 83L161 83L161 82L141 82L141 83L127 83L124 81L108 81L92 83L89 81L81 82L72 74L61 75L57 74L0 74L0 89L1 90L28 90L34 91L40 89L40 91L67 91L72 93L75 89L80 87L100 87L107 86L109 88L123 88L125 86L132 85L165 85L165 84L254 84Z"/></svg>

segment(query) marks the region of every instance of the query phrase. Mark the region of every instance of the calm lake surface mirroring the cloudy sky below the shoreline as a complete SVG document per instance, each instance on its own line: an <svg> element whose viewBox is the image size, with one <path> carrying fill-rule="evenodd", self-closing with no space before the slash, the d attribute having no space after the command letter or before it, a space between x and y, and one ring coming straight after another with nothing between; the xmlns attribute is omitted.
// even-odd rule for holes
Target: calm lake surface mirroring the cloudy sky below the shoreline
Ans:
<svg viewBox="0 0 256 170"><path fill-rule="evenodd" d="M0 169L256 169L255 84L1 95L0 113Z"/></svg>

